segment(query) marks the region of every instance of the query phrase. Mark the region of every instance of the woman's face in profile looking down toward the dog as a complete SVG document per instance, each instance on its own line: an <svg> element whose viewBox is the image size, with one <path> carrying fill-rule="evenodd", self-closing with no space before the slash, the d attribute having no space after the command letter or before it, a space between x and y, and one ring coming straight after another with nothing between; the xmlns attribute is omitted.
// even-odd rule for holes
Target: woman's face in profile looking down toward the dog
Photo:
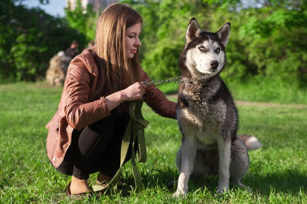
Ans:
<svg viewBox="0 0 307 204"><path fill-rule="evenodd" d="M125 40L126 55L128 59L133 58L134 54L137 52L138 47L142 45L139 39L140 32L141 24L136 24L126 29Z"/></svg>

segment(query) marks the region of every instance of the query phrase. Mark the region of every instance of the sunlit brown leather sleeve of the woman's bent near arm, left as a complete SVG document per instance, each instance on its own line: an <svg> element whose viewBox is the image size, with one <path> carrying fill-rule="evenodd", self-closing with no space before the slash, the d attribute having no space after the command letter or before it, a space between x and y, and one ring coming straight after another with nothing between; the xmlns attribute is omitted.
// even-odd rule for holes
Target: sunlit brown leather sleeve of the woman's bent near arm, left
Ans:
<svg viewBox="0 0 307 204"><path fill-rule="evenodd" d="M65 78L67 95L64 112L68 124L75 129L84 128L111 115L104 97L90 102L90 74L79 55L69 65Z"/></svg>

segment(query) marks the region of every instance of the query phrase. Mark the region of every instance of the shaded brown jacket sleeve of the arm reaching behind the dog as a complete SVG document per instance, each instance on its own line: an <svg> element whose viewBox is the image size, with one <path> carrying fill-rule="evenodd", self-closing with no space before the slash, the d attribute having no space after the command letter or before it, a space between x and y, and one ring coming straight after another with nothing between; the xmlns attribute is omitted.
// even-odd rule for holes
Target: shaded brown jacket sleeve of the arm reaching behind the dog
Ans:
<svg viewBox="0 0 307 204"><path fill-rule="evenodd" d="M147 73L141 68L142 81L150 81ZM168 100L164 93L154 85L148 85L143 96L145 103L163 117L176 119L177 103Z"/></svg>

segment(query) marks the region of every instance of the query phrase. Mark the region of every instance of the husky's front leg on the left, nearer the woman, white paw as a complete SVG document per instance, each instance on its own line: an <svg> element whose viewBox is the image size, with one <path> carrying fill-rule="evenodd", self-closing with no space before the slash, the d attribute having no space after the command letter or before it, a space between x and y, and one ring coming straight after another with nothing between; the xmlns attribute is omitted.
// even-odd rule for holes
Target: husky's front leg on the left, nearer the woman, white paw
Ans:
<svg viewBox="0 0 307 204"><path fill-rule="evenodd" d="M186 139L182 143L182 162L180 175L178 178L178 187L173 197L185 196L188 193L188 181L193 170L193 164L196 156L196 145L193 139Z"/></svg>

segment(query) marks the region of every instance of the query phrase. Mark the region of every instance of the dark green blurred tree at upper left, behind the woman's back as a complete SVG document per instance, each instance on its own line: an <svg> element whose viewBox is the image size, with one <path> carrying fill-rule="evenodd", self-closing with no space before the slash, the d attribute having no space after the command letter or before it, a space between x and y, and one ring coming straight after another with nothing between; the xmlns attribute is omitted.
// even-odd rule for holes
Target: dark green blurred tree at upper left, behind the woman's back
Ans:
<svg viewBox="0 0 307 204"><path fill-rule="evenodd" d="M85 46L85 36L69 27L64 18L39 8L28 9L23 2L0 3L0 83L41 78L50 58L69 47L73 39Z"/></svg>

